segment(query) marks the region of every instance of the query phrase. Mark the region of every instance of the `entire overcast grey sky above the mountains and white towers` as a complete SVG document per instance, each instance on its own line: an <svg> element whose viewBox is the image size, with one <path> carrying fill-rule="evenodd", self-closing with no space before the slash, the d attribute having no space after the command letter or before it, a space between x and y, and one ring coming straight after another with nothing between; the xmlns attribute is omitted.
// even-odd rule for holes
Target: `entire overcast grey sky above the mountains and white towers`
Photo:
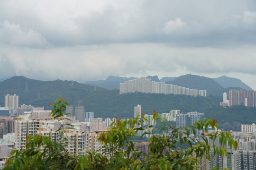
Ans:
<svg viewBox="0 0 256 170"><path fill-rule="evenodd" d="M256 89L255 0L0 0L0 78L189 73Z"/></svg>

